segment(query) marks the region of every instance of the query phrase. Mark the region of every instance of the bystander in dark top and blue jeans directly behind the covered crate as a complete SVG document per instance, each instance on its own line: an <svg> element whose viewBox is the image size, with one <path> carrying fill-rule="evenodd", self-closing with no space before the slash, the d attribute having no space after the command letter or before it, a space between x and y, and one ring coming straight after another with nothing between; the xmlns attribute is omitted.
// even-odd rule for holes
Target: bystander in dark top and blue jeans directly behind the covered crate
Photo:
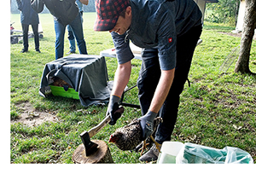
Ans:
<svg viewBox="0 0 256 174"><path fill-rule="evenodd" d="M55 22L55 59L63 57L64 35L66 26L70 25L73 29L75 38L79 46L79 53L87 55L86 44L84 41L84 32L76 0L32 0L32 8L41 13L44 4L49 9L50 14L54 16ZM80 0L81 3L88 3L88 0Z"/></svg>

